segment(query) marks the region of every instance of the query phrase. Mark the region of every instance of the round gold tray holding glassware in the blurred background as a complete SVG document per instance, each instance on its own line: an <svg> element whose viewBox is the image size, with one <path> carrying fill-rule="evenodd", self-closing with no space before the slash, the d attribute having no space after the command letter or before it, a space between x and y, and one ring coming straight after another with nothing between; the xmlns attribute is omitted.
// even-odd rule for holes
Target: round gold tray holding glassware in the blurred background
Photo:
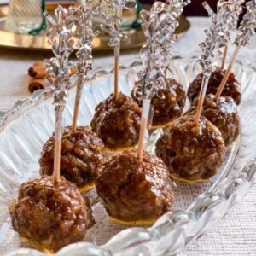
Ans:
<svg viewBox="0 0 256 256"><path fill-rule="evenodd" d="M14 32L4 31L4 21L8 15L8 6L0 6L0 47L16 48L16 49L33 49L33 50L49 50L48 39L44 36L44 32L38 36L26 34L17 34ZM182 36L184 32L189 30L190 24L185 17L181 17L180 26L177 27L178 36ZM125 30L127 40L121 43L121 49L136 49L143 46L145 42L144 34L141 28L131 28ZM108 45L108 35L99 35L93 41L95 51L111 50Z"/></svg>

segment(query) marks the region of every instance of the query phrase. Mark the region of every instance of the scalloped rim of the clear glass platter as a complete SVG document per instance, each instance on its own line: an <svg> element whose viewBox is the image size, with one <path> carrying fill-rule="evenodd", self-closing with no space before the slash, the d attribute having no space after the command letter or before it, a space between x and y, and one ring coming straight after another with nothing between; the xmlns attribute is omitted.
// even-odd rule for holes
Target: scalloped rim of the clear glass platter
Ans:
<svg viewBox="0 0 256 256"><path fill-rule="evenodd" d="M131 67L137 67L140 66L141 63L139 61L134 61L130 65L124 67L121 66L121 69L127 69ZM250 65L249 65L250 66ZM256 67L253 67L253 70L256 70ZM92 73L90 76L90 79L95 79L98 76L112 73L112 69L100 69L96 72ZM7 112L0 112L0 136L1 133L6 129L8 125L10 125L12 122L15 121L15 119L18 119L23 113L26 112L26 110L35 108L35 106L38 105L38 103L43 102L45 100L49 100L50 94L49 91L45 90L38 90L32 94L32 96L28 97L27 99L19 100L15 102L15 105L13 108L11 108ZM236 141L236 143L233 145L232 150L237 150L239 148L239 139ZM234 154L235 155L235 154ZM233 161L230 160L230 168L233 164ZM231 206L233 206L239 199L241 199L242 196L247 194L247 191L253 186L255 183L255 172L256 172L256 166L254 164L253 160L250 160L249 162L244 163L243 166L240 166L240 171L238 172L239 175L235 177L224 177L223 181L218 184L218 180L215 182L215 185L212 186L212 189L210 191L207 191L200 195L195 201L192 202L192 204L189 206L189 208L183 210L183 211L175 211L175 212L168 212L150 228L143 229L143 228L130 228L128 230L130 231L130 235L127 234L126 230L121 231L116 236L113 236L105 245L103 246L96 246L93 244L90 244L88 242L80 242L75 243L72 245L69 245L67 247L62 248L56 255L68 255L68 253L75 252L78 253L76 255L80 255L79 251L83 253L84 255L87 255L87 253L93 253L90 255L119 255L121 252L129 252L129 250L132 249L132 252L136 251L137 253L142 252L141 255L154 255L151 254L151 250L148 247L153 247L152 244L154 242L160 241L163 239L163 237L173 237L172 232L173 231L179 231L181 232L178 237L182 234L183 241L180 242L179 246L175 247L175 242L171 249L169 248L170 253L177 253L180 252L185 245L187 245L190 241L194 240L196 237L201 236L202 233L204 233L208 228L209 224L213 223L213 220L222 218L226 212L230 209ZM217 186L218 185L218 186ZM224 202L229 202L230 204L228 207L224 207ZM198 215L193 216L191 214L191 209L200 209L198 212ZM217 210L218 211L217 211ZM209 218L207 221L207 224L205 227L198 230L198 232L194 232L194 236L189 236L189 231L191 229L191 225L193 226L193 223L196 223L200 218L205 218L204 214L209 212L216 212L218 213L218 217ZM196 211L194 211L196 212ZM206 215L206 214L205 214ZM172 230L169 230L164 236L157 236L158 232L153 232L155 228L161 229L161 226L164 226L164 224L169 224L170 227L172 227ZM190 228L189 228L190 227ZM187 229L187 230L186 230ZM191 230L190 230L191 231ZM125 233L126 232L126 233ZM137 236L137 240L134 241L131 238L132 232L135 232ZM188 234L187 234L188 233ZM193 233L193 232L192 232ZM172 234L172 236L171 236ZM119 247L118 241L121 241L122 239L125 239L125 237L128 239L131 238L131 242L128 242L124 247ZM148 246L147 246L148 245ZM115 246L115 248L114 248ZM146 248L146 249L145 249ZM74 251L73 251L74 250ZM43 255L42 253L39 253L38 251L35 252L33 249L26 249L21 248L15 252L8 253L7 255L27 255L28 253L34 252L35 255ZM144 254L143 252L149 252L150 254ZM122 253L122 255L126 255ZM133 254L127 254L127 255L133 255Z"/></svg>

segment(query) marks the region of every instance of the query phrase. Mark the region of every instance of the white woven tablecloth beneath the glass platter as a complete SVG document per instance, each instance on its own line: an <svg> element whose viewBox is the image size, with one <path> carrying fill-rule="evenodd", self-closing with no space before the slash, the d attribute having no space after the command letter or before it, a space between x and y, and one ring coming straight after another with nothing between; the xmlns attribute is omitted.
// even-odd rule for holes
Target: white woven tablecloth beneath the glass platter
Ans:
<svg viewBox="0 0 256 256"><path fill-rule="evenodd" d="M204 39L203 29L209 25L207 18L190 18L191 29L174 47L175 54L187 55L198 49ZM256 38L249 49L249 58L256 61ZM253 49L255 48L255 49ZM247 53L245 49L241 54ZM126 51L121 62L131 61L137 55ZM48 58L49 53L0 49L0 110L9 109L15 100L29 96L27 69L34 61ZM96 55L96 68L111 65L109 54ZM256 85L256 84L255 84ZM194 241L181 255L256 255L256 188L234 207L224 220L216 224L207 235Z"/></svg>

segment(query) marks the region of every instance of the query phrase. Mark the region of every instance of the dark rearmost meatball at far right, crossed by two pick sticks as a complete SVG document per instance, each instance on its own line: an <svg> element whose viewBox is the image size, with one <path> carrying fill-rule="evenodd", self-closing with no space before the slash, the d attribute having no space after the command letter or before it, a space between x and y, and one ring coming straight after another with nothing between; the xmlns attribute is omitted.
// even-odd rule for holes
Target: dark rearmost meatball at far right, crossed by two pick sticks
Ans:
<svg viewBox="0 0 256 256"><path fill-rule="evenodd" d="M216 69L214 72L212 72L212 75L209 80L209 84L207 87L207 94L216 94L218 90L218 86L220 85L222 79L224 78L225 70L222 70L220 68ZM203 74L200 73L196 76L195 80L189 84L189 90L188 90L188 97L189 101L193 102L197 96L199 96L200 89L201 89L201 80L202 80ZM229 79L227 83L225 84L224 90L222 92L222 96L230 96L233 98L233 100L236 102L237 105L241 102L241 84L238 83L236 80L235 74L230 73Z"/></svg>

